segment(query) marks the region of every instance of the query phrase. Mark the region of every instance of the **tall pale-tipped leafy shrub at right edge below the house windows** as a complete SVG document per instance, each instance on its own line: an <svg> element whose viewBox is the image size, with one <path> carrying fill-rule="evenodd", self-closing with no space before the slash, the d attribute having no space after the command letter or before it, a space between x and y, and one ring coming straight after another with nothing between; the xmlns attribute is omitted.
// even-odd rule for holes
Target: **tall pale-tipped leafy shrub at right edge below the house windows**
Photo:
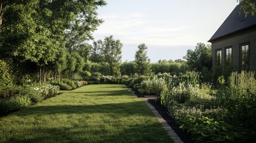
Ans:
<svg viewBox="0 0 256 143"><path fill-rule="evenodd" d="M227 118L234 125L244 126L256 131L256 80L255 73L234 72L227 86L221 87L217 100L227 110Z"/></svg>

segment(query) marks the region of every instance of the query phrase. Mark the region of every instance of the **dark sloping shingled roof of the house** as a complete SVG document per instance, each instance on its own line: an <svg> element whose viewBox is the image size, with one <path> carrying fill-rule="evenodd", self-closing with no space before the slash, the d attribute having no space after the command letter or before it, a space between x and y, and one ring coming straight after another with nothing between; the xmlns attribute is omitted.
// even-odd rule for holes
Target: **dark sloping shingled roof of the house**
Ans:
<svg viewBox="0 0 256 143"><path fill-rule="evenodd" d="M243 14L239 14L240 6L241 4L236 6L229 17L227 17L211 39L209 39L209 42L232 35L233 33L237 33L242 30L250 29L251 27L256 27L256 15L253 17L248 15L245 17Z"/></svg>

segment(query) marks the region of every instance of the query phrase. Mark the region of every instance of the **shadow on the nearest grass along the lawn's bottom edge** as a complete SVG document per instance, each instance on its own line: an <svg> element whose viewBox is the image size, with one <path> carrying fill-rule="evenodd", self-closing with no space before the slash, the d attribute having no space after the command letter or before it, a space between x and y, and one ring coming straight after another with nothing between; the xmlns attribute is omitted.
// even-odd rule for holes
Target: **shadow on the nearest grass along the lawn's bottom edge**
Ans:
<svg viewBox="0 0 256 143"><path fill-rule="evenodd" d="M13 136L9 142L171 142L159 123L143 123L140 125L130 125L126 128L118 127L113 130L90 128L87 126L73 126L72 128L41 128L28 129ZM39 133L39 136L26 137L26 133Z"/></svg>

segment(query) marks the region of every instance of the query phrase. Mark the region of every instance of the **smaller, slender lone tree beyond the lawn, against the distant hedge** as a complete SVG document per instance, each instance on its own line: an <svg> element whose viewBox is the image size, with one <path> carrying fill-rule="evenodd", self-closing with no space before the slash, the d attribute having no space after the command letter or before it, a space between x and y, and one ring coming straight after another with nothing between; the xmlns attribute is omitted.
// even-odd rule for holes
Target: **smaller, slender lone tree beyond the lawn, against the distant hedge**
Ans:
<svg viewBox="0 0 256 143"><path fill-rule="evenodd" d="M151 72L150 59L147 57L147 46L145 43L138 45L135 53L136 69L140 75L147 75Z"/></svg>

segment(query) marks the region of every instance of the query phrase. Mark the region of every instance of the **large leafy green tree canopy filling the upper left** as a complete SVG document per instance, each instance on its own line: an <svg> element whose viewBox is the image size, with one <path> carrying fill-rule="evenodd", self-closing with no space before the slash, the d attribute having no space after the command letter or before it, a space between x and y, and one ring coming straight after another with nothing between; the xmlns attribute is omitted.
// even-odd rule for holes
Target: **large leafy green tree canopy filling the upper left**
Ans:
<svg viewBox="0 0 256 143"><path fill-rule="evenodd" d="M78 53L73 56L86 61L90 52L87 41L103 23L96 10L104 5L103 0L0 1L0 57L16 65L35 64L42 80L46 70L65 69L61 66L68 57L64 51Z"/></svg>

